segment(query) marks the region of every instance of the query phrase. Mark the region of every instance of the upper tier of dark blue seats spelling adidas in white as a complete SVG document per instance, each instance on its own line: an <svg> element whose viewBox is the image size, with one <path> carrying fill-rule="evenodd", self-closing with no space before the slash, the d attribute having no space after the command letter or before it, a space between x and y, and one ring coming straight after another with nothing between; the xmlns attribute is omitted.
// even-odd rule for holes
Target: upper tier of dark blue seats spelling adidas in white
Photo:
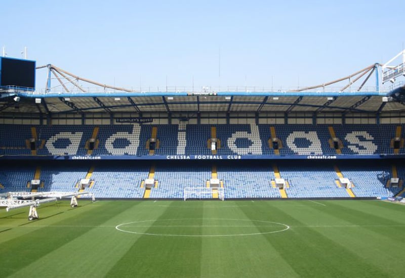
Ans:
<svg viewBox="0 0 405 278"><path fill-rule="evenodd" d="M186 124L184 131L172 125L102 125L97 135L97 148L92 155L149 155L148 140L152 128L157 129L158 148L155 155L211 155L208 140L211 127L208 124ZM216 136L220 140L218 155L273 155L269 147L270 128L274 127L282 143L281 156L289 155L336 155L331 145L329 125L256 125L218 124ZM384 125L333 125L337 140L341 142L343 155L394 154L391 146L396 135L394 124ZM0 152L3 155L31 155L29 125L0 125ZM37 155L87 155L86 144L92 137L94 125L35 126ZM404 125L400 125L403 135ZM184 125L181 127L184 128ZM12 130L12 131L10 131ZM18 130L18 132L17 132ZM180 135L178 134L180 133ZM183 136L183 137L181 137ZM179 138L181 143L179 143ZM156 145L157 146L157 145ZM404 154L405 148L398 148Z"/></svg>

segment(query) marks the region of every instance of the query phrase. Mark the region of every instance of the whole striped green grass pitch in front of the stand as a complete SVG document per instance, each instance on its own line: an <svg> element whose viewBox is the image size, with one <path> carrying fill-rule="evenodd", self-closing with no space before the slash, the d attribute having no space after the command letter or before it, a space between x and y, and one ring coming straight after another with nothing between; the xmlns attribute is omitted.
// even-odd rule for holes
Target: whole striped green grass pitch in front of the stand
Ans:
<svg viewBox="0 0 405 278"><path fill-rule="evenodd" d="M403 277L405 271L405 206L382 201L79 200L77 208L45 204L38 214L28 221L27 207L0 211L1 277Z"/></svg>

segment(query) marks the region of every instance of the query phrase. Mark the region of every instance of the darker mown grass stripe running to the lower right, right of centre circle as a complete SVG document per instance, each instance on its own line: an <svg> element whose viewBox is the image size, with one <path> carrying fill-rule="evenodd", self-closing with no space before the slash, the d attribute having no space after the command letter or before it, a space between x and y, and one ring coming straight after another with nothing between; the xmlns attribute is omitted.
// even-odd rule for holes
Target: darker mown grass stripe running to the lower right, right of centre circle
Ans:
<svg viewBox="0 0 405 278"><path fill-rule="evenodd" d="M257 217L253 208L243 207L242 210L249 217ZM277 218L284 218L288 223L295 222L305 225L305 214L294 211L290 214L286 210L271 207L272 214ZM266 217L261 214L260 217ZM271 217L271 216L270 216ZM263 229L258 226L258 229ZM351 252L342 242L331 240L317 229L302 227L299 230L289 229L286 233L264 235L268 242L278 252L279 256L302 277L331 277L331 276L361 276L368 271L373 275L384 276L388 273L368 263L359 254Z"/></svg>

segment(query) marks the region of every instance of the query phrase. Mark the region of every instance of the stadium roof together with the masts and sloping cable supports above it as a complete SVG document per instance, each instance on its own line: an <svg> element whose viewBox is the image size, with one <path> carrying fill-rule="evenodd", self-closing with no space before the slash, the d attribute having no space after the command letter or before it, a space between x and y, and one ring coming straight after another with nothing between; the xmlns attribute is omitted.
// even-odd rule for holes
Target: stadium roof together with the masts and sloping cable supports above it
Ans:
<svg viewBox="0 0 405 278"><path fill-rule="evenodd" d="M45 92L23 91L18 88L0 88L0 113L172 113L172 112L222 112L222 113L381 113L405 111L405 50L385 64L374 63L345 77L318 85L291 91L258 91L256 87L221 88L203 87L194 90L139 92L115 87L79 77L52 64L36 67L48 69ZM379 73L380 72L380 73ZM51 76L55 78L51 78ZM380 78L379 74L381 74ZM376 86L371 90L365 85L375 75ZM51 80L59 82L51 86ZM80 82L98 86L87 89ZM354 83L359 84L358 86ZM393 83L387 89L383 84ZM67 85L76 89L73 92ZM337 90L331 85L339 85ZM103 91L97 90L102 88ZM108 91L110 89L110 91ZM55 91L59 90L59 91ZM251 90L251 91L249 91ZM388 91L389 90L389 91ZM60 92L62 91L62 92ZM93 91L93 92L91 92Z"/></svg>

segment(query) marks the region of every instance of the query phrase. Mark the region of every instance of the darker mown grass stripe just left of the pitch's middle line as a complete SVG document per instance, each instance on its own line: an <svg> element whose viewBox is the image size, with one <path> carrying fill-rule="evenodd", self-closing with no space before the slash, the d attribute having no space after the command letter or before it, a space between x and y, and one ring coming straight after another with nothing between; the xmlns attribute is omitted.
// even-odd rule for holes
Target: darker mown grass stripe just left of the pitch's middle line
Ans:
<svg viewBox="0 0 405 278"><path fill-rule="evenodd" d="M159 202L163 203L163 202ZM190 204L192 206L190 207ZM165 204L165 203L164 203ZM183 207L183 204L186 205ZM166 219L201 219L203 217L203 202L173 202L173 206L165 207L165 211L154 220L145 233L184 233L184 227L173 227L168 231L160 227ZM162 207L156 207L161 209ZM148 212L153 211L153 205L148 206ZM145 211L146 212L146 211ZM136 219L134 219L136 220ZM199 220L201 224L202 220ZM201 229L192 229L200 234ZM134 234L127 234L133 237ZM107 277L195 277L200 272L200 238L178 238L142 235L131 246L128 252L110 269Z"/></svg>

